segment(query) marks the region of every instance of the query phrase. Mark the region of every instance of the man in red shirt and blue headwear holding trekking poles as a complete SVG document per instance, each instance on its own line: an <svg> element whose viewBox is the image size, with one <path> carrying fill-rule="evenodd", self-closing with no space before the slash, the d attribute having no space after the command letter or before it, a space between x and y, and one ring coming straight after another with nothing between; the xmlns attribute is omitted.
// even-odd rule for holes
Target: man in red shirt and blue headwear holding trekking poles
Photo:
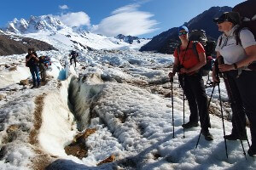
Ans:
<svg viewBox="0 0 256 170"><path fill-rule="evenodd" d="M199 126L200 116L201 133L205 136L205 139L212 140L212 134L208 129L211 127L211 123L207 111L207 94L200 71L201 67L207 63L206 54L201 43L197 42L196 50L199 58L196 56L192 48L193 42L189 41L188 33L189 29L186 26L178 28L178 37L182 43L174 51L174 64L169 77L174 77L178 72L179 82L189 101L189 122L183 124L183 128ZM179 51L179 54L177 51Z"/></svg>

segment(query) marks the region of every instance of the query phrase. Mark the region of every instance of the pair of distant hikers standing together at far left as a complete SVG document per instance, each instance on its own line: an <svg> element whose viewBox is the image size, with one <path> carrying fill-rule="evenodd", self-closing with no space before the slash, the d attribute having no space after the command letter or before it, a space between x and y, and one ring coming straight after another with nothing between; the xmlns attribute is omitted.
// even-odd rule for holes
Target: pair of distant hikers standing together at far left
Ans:
<svg viewBox="0 0 256 170"><path fill-rule="evenodd" d="M40 56L35 52L34 48L28 48L26 55L26 66L32 74L33 86L32 88L40 88L41 79L39 76L39 71L41 73L42 81L45 82L46 70L51 65L49 56Z"/></svg>

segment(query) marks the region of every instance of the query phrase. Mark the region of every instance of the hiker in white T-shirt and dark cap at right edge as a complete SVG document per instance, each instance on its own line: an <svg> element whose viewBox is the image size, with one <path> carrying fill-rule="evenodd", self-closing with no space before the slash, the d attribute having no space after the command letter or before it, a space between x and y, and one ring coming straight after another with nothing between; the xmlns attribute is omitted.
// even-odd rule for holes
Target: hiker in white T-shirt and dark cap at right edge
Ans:
<svg viewBox="0 0 256 170"><path fill-rule="evenodd" d="M256 42L253 33L247 28L237 32L241 24L240 15L236 12L225 12L214 19L218 31L224 33L218 37L216 46L217 59L223 56L224 63L218 64L218 69L224 76L232 94L232 132L224 139L247 139L246 116L250 122L252 145L248 155L256 155L256 71L248 69L247 65L256 60ZM237 38L241 42L237 42ZM212 79L218 82L213 67Z"/></svg>

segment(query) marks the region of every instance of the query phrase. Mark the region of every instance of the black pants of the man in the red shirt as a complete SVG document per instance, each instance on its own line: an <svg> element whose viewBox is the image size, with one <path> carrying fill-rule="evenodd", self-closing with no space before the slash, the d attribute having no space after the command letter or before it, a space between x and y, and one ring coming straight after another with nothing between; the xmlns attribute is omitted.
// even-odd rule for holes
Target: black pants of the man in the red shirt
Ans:
<svg viewBox="0 0 256 170"><path fill-rule="evenodd" d="M179 75L178 79L189 102L189 122L200 120L202 129L211 127L210 116L207 111L207 94L201 75Z"/></svg>

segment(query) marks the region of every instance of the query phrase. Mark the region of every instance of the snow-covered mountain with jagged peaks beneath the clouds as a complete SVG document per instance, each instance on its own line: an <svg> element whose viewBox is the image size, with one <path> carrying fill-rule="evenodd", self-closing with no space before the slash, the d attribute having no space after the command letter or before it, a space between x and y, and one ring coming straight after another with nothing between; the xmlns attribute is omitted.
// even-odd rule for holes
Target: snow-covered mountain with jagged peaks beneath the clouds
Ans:
<svg viewBox="0 0 256 170"><path fill-rule="evenodd" d="M29 20L14 19L3 31L19 34L48 42L55 48L90 50L90 49L139 49L150 40L134 37L106 37L66 26L52 15L32 16Z"/></svg>

